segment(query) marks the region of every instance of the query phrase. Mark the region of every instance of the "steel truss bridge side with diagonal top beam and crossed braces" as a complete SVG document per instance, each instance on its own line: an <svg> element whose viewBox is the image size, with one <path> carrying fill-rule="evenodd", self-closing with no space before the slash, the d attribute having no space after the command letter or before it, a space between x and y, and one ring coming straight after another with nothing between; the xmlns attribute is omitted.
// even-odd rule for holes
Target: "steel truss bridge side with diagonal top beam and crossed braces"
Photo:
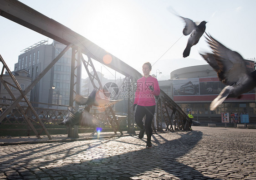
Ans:
<svg viewBox="0 0 256 180"><path fill-rule="evenodd" d="M92 59L96 60L109 68L123 74L126 78L126 82L136 82L138 78L141 78L141 73L136 69L132 68L128 64L124 63L113 54L109 54L107 51L92 43L85 37L66 26L58 23L57 21L41 14L40 12L32 9L31 7L17 1L17 0L1 0L0 1L0 15L6 19L18 23L26 28L36 31L37 33L43 34L51 39L54 39L62 44L67 45L63 51L54 58L51 63L32 81L32 83L23 91L20 88L19 83L15 79L15 76L10 72L10 69L7 67L4 59L0 56L0 62L3 64L3 68L0 75L0 81L3 86L6 88L10 97L12 97L12 104L5 109L4 112L0 115L0 122L11 112L12 109L17 109L18 112L25 118L26 123L30 126L32 131L36 134L38 138L41 138L40 134L42 131L45 131L46 135L51 139L49 132L44 126L41 119L38 117L38 114L34 107L32 107L31 102L26 97L26 94L35 87L36 83L54 66L54 64L67 52L68 49L72 49L72 64L71 64L71 83L70 83L70 100L69 106L73 106L76 109L78 105L74 102L75 93L80 93L80 80L81 80L81 66L83 65L88 73L90 81L94 88L102 90L102 83L98 77ZM112 61L109 64L103 62L103 57L108 54L111 56ZM87 57L86 59L84 58ZM89 71L92 69L92 73ZM7 71L12 79L13 83L8 83L3 79L3 73ZM97 82L97 83L96 83ZM15 85L13 85L15 84ZM97 84L97 85L96 85ZM10 89L10 86L17 89L20 92L19 97L15 97ZM21 107L19 102L23 100L27 103L28 108L24 109ZM128 99L128 132L134 133L134 115L133 115L133 98ZM31 119L28 116L29 112L35 116L36 121ZM115 131L120 131L123 134L118 120L114 114L112 107L108 107L104 113L105 117L108 117L107 121L113 126ZM189 118L182 111L182 109L167 95L164 91L161 90L159 98L157 99L157 109L156 109L156 121L157 129L154 128L154 131L162 131L163 123L166 123L166 131L177 131L177 130L189 130ZM35 124L41 126L41 131L36 130ZM154 126L153 126L154 127ZM71 131L71 130L70 130ZM75 135L70 135L76 137Z"/></svg>

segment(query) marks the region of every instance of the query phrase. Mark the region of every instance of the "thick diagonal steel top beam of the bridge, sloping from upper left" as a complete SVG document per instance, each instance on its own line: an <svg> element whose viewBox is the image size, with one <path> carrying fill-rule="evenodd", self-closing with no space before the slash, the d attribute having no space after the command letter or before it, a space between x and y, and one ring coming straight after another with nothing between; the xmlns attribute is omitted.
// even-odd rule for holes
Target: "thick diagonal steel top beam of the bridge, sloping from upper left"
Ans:
<svg viewBox="0 0 256 180"><path fill-rule="evenodd" d="M111 63L105 64L109 68L135 79L141 78L141 73L128 64L108 53L106 50L92 43L80 34L58 23L31 7L17 0L0 0L0 15L20 25L32 29L62 44L74 44L79 47L83 54L89 55L98 62L103 62L103 57L108 54L112 57Z"/></svg>

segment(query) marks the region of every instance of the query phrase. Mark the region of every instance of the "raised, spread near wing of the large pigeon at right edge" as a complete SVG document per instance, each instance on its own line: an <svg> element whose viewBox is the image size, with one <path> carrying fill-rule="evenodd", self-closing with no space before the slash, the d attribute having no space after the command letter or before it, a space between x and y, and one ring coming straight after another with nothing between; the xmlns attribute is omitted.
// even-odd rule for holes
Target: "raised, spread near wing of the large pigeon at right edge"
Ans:
<svg viewBox="0 0 256 180"><path fill-rule="evenodd" d="M215 54L214 58L220 68L220 72L222 72L223 83L233 85L239 81L240 76L249 74L245 61L239 53L226 48L210 35L207 34L207 36L207 42Z"/></svg>

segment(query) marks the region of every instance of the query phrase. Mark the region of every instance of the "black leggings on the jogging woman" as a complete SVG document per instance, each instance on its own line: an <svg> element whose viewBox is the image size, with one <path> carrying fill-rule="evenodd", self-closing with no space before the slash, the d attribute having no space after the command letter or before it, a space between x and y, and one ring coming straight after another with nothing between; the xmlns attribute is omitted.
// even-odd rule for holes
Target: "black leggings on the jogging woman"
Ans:
<svg viewBox="0 0 256 180"><path fill-rule="evenodd" d="M151 141L152 136L152 120L155 113L155 106L137 106L136 112L135 112L135 122L137 126L139 126L141 129L144 128L143 125L143 117L146 115L145 120L145 127L146 127L146 134L147 134L147 141Z"/></svg>

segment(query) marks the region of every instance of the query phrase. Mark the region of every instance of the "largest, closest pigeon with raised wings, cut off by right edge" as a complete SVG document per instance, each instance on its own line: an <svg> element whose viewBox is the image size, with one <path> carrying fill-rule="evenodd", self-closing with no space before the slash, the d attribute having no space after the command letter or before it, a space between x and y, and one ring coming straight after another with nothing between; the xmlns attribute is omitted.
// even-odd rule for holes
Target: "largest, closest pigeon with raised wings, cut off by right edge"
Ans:
<svg viewBox="0 0 256 180"><path fill-rule="evenodd" d="M220 81L227 85L211 102L210 110L213 111L226 98L241 97L241 94L253 89L256 86L256 71L250 73L239 53L226 48L210 35L207 36L207 43L213 54L201 56L217 72Z"/></svg>

